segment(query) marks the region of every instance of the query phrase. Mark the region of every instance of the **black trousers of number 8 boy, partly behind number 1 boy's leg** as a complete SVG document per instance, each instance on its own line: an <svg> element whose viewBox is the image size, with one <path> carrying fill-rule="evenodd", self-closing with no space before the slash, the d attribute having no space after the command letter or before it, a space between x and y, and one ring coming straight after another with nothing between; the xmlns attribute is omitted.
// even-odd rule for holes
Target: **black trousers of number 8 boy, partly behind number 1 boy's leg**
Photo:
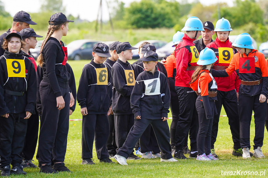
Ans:
<svg viewBox="0 0 268 178"><path fill-rule="evenodd" d="M117 145L116 151L118 152L118 149L121 148L125 143L129 131L134 124L134 114L114 115L114 118L115 118L115 129L116 129L116 145ZM135 144L137 141L135 141ZM131 154L133 154L133 151L134 150L132 150Z"/></svg>

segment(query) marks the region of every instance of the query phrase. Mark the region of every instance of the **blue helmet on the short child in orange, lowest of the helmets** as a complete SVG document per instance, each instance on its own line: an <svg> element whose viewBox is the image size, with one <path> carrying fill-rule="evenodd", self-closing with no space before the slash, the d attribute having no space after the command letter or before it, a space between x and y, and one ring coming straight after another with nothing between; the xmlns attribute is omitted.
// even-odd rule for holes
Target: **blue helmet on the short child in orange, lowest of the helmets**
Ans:
<svg viewBox="0 0 268 178"><path fill-rule="evenodd" d="M197 64L204 66L204 65L215 63L217 60L218 59L214 51L211 50L210 48L205 48L200 52Z"/></svg>

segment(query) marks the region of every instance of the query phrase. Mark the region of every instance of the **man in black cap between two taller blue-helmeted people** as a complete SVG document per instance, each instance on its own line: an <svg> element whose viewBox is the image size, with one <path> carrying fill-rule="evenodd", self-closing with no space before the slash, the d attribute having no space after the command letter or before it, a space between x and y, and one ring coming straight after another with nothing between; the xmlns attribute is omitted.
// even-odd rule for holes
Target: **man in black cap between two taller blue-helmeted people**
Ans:
<svg viewBox="0 0 268 178"><path fill-rule="evenodd" d="M203 22L203 28L205 31L201 31L202 38L193 41L195 44L198 53L200 53L203 49L206 48L206 46L211 43L212 35L215 34L214 32L214 25L210 21Z"/></svg>

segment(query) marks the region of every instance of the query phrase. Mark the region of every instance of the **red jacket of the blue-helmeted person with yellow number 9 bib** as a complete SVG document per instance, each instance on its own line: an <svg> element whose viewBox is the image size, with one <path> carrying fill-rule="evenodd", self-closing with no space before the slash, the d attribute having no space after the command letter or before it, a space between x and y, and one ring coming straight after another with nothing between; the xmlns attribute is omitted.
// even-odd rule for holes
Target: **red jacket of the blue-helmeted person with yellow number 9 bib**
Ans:
<svg viewBox="0 0 268 178"><path fill-rule="evenodd" d="M216 54L216 57L218 60L214 63L214 66L229 66L229 63L220 63L219 62L219 50L218 48L231 48L232 43L229 41L229 38L225 42L221 42L218 37L216 38L215 41L209 43L207 45L208 48L213 50ZM236 50L232 50L233 54L236 52ZM228 56L226 55L224 57L225 59L228 59ZM231 91L233 89L236 89L236 92L239 90L239 85L240 85L240 80L237 76L237 73L234 72L232 75L229 77L215 77L215 80L218 85L218 90L220 91Z"/></svg>

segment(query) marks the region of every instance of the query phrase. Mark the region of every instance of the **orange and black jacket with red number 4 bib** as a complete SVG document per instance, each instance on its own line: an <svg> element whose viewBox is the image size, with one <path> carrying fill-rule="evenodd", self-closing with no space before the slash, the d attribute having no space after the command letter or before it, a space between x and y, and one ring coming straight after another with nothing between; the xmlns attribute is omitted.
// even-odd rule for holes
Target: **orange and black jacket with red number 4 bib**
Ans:
<svg viewBox="0 0 268 178"><path fill-rule="evenodd" d="M247 59L253 57L251 59ZM241 59L242 58L242 59ZM264 55L257 50L252 50L248 54L234 54L231 59L230 65L225 70L213 70L211 69L212 76L225 77L230 76L233 72L236 72L239 78L243 81L256 81L262 79L262 83L259 85L240 85L239 95L254 96L257 94L263 94L267 97L268 94L268 68Z"/></svg>

